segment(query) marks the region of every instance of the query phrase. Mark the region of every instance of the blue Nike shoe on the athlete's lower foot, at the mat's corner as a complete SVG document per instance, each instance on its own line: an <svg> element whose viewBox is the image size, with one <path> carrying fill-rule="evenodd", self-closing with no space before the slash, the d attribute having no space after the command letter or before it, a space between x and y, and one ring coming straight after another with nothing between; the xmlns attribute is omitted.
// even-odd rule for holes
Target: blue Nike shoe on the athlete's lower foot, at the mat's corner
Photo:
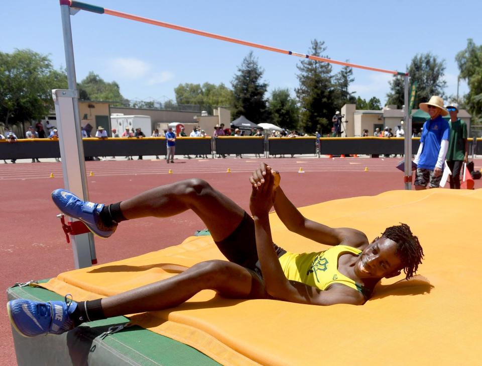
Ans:
<svg viewBox="0 0 482 366"><path fill-rule="evenodd" d="M67 295L68 296L68 295ZM74 328L70 314L77 308L77 303L50 301L40 303L27 299L16 299L7 303L12 326L25 337L41 334L62 334Z"/></svg>

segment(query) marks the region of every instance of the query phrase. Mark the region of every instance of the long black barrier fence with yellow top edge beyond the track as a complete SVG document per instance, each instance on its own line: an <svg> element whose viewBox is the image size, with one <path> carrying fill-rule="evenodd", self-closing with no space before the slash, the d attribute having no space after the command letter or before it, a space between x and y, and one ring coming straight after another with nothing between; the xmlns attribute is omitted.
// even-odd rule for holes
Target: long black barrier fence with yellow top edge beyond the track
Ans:
<svg viewBox="0 0 482 366"><path fill-rule="evenodd" d="M403 154L403 138L346 137L321 138L319 149L315 137L178 137L176 155L207 154L320 154L320 155L391 155ZM469 138L469 154L482 155L482 138ZM412 153L416 154L420 138L412 139ZM145 138L84 138L85 156L165 155L163 137ZM50 139L19 139L17 142L0 140L0 159L60 157L59 141Z"/></svg>

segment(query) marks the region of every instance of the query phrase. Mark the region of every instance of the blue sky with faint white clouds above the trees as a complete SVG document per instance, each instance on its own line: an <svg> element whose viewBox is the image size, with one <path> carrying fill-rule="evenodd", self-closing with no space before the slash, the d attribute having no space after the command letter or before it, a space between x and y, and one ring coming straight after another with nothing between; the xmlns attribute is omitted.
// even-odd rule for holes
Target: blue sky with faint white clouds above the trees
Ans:
<svg viewBox="0 0 482 366"><path fill-rule="evenodd" d="M477 1L125 1L90 0L107 9L239 38L308 52L311 39L325 42L335 60L404 71L417 53L432 52L446 63L446 95L456 94L455 54L467 38L482 43ZM30 48L65 65L58 0L2 2L0 50ZM251 50L192 34L81 11L71 17L77 80L92 70L115 80L129 99L174 99L179 83L230 86L237 66ZM254 49L269 90L298 85L300 58ZM333 72L339 66L333 65ZM351 91L382 104L391 75L354 69ZM460 83L460 94L467 92Z"/></svg>

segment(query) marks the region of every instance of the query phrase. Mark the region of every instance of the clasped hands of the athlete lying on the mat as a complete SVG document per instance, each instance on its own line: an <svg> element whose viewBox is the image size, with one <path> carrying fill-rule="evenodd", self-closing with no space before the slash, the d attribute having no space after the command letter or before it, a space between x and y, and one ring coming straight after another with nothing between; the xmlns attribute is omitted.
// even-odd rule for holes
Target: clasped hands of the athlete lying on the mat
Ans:
<svg viewBox="0 0 482 366"><path fill-rule="evenodd" d="M261 163L250 177L252 185L250 210L253 216L266 215L273 207L276 189L280 184L280 174L266 163Z"/></svg>

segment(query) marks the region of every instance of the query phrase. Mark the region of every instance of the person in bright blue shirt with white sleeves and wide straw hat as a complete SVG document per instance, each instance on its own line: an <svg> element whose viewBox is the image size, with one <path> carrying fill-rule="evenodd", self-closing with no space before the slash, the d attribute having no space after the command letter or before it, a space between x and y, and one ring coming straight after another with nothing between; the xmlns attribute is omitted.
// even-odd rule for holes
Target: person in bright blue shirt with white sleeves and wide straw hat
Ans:
<svg viewBox="0 0 482 366"><path fill-rule="evenodd" d="M430 119L423 124L420 147L414 160L417 164L414 183L417 191L426 189L427 185L429 188L440 186L450 136L450 126L442 118L448 115L442 98L433 96L428 103L420 103L420 109L427 112Z"/></svg>

